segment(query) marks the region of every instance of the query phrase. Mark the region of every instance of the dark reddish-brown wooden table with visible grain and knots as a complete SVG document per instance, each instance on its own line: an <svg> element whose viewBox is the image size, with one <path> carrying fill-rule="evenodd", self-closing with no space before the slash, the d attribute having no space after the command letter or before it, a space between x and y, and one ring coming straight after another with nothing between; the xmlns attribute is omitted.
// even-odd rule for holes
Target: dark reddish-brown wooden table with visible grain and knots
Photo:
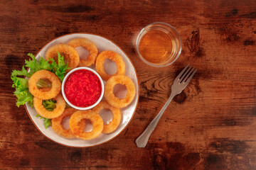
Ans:
<svg viewBox="0 0 256 170"><path fill-rule="evenodd" d="M1 1L0 169L256 169L256 1ZM149 67L134 44L161 21L181 35L174 64ZM68 33L116 42L132 60L139 104L114 140L90 148L58 145L16 107L11 71L26 54ZM135 139L164 106L186 66L198 69L174 98L145 148Z"/></svg>

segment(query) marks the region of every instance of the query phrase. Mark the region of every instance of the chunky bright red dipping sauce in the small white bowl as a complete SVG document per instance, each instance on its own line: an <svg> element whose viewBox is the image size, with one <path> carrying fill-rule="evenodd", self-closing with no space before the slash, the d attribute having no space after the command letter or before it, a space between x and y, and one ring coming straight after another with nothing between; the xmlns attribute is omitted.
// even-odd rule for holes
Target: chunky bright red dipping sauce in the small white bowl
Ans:
<svg viewBox="0 0 256 170"><path fill-rule="evenodd" d="M64 92L68 101L78 107L92 106L100 98L102 87L96 74L78 69L68 76Z"/></svg>

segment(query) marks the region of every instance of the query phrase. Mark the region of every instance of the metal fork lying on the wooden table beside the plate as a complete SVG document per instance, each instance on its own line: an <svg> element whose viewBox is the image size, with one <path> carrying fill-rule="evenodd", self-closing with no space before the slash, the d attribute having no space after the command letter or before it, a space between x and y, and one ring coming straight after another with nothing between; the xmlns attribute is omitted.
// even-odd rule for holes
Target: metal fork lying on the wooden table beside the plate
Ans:
<svg viewBox="0 0 256 170"><path fill-rule="evenodd" d="M180 74L176 77L174 80L174 84L171 86L171 95L166 101L165 105L163 108L161 108L161 111L156 115L156 117L149 123L149 125L146 127L144 132L142 132L142 135L139 135L137 140L135 141L137 144L137 147L146 147L146 143L149 140L149 137L151 133L154 131L156 128L157 123L159 122L161 116L163 115L164 111L166 110L167 106L169 106L169 103L171 100L176 96L177 94L180 94L183 89L186 88L188 85L189 81L191 81L193 75L196 73L196 70L194 70L193 67L188 67L189 64L181 71Z"/></svg>

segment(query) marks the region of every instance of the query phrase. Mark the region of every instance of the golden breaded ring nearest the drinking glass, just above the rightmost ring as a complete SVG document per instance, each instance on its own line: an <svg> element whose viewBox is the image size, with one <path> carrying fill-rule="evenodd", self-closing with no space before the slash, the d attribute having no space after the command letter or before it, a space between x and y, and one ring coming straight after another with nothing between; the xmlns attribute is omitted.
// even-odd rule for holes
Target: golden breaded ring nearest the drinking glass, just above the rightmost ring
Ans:
<svg viewBox="0 0 256 170"><path fill-rule="evenodd" d="M112 75L107 74L105 72L104 62L106 59L110 59L117 64L117 72L115 72ZM122 56L117 54L117 52L113 52L113 51L100 52L100 54L97 56L95 67L96 67L97 73L100 74L100 77L102 77L102 79L104 79L105 81L110 79L110 77L112 76L125 74L125 64L124 64L124 61L122 60Z"/></svg>

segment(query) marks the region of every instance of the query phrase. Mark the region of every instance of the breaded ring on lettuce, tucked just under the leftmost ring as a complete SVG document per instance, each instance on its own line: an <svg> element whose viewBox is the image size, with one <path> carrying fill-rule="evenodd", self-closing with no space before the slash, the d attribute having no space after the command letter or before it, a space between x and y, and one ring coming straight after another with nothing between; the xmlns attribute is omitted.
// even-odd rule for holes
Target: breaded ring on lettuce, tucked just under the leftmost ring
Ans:
<svg viewBox="0 0 256 170"><path fill-rule="evenodd" d="M65 100L61 94L58 94L58 96L56 96L54 99L57 101L56 108L54 108L53 111L47 111L46 108L43 106L43 100L34 97L33 106L35 107L38 115L41 115L43 118L48 119L59 117L65 109Z"/></svg>

